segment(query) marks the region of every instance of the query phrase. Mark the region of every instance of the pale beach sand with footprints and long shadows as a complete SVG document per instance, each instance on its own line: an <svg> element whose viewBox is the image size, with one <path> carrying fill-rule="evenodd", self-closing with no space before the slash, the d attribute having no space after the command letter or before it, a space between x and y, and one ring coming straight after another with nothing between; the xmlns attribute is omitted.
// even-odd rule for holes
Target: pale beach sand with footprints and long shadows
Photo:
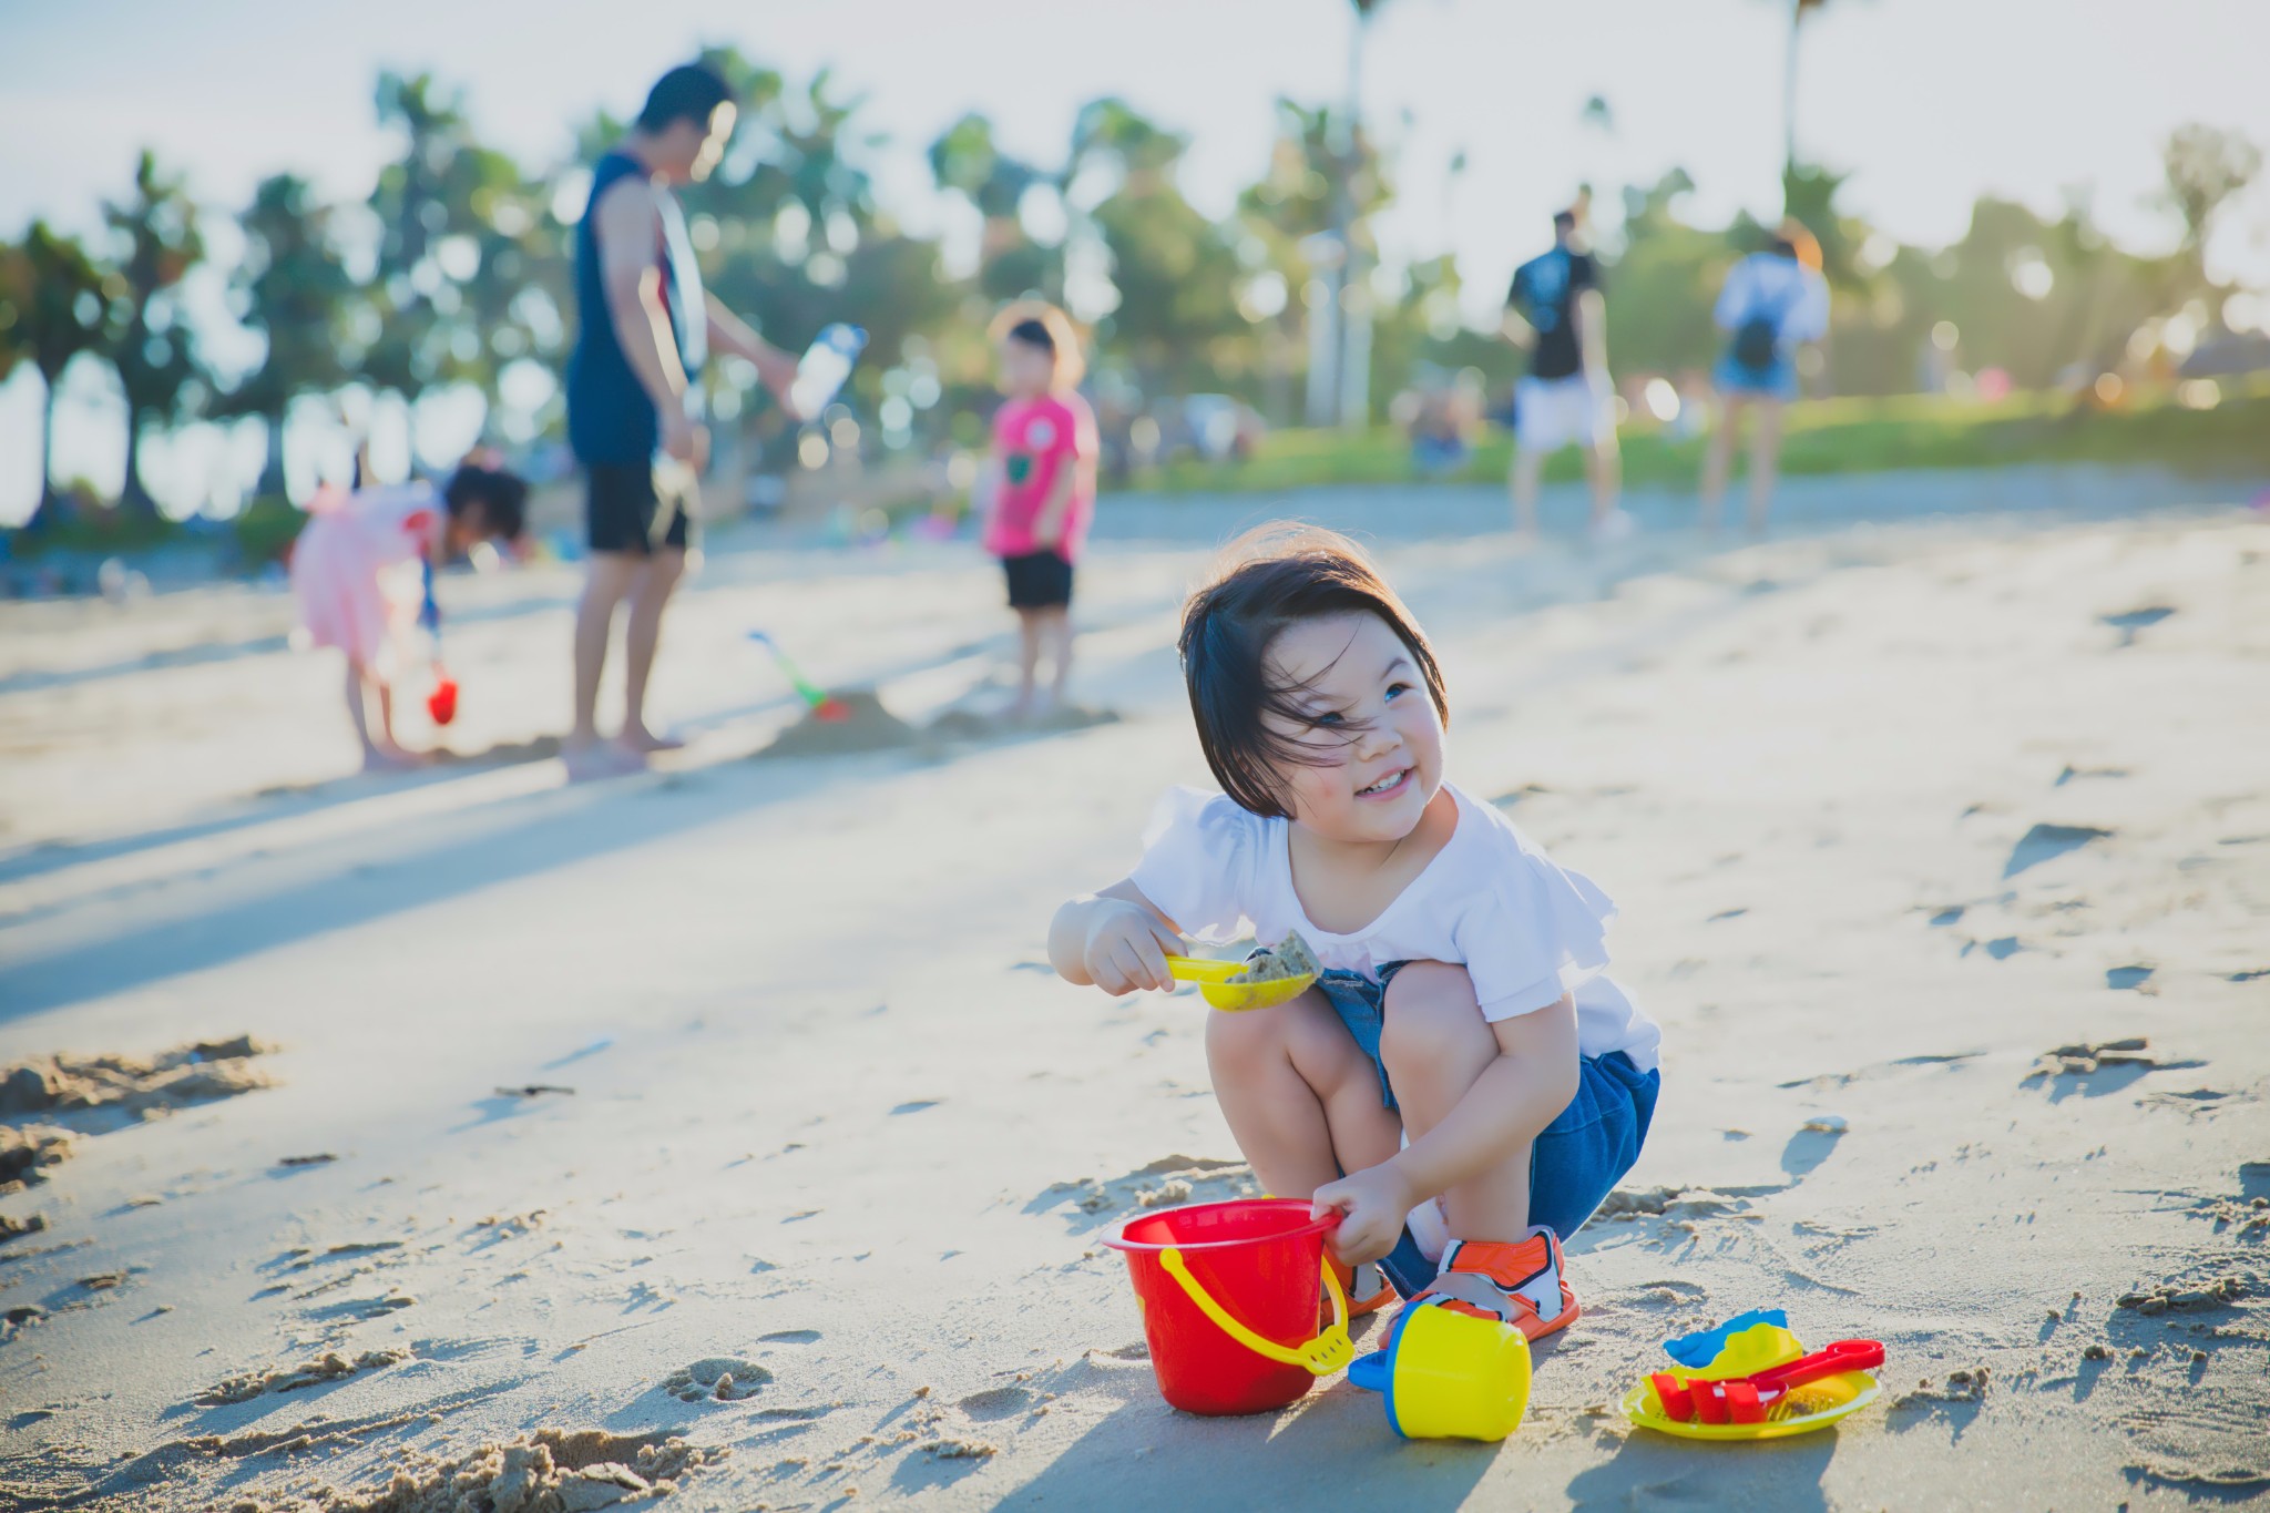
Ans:
<svg viewBox="0 0 2270 1513"><path fill-rule="evenodd" d="M1081 588L1119 719L1031 735L969 717L1008 649L969 549L751 535L667 626L688 751L581 787L540 744L570 569L445 585L486 755L400 778L336 776L277 594L0 608L0 1064L41 1064L0 1084L0 1504L2270 1497L2270 522L1948 488L1600 556L1382 510L1453 778L1619 898L1666 1034L1503 1445L1339 1379L1180 1415L1099 1243L1251 1186L1208 1009L1042 935L1203 778L1171 610L1271 501L1126 504ZM922 735L747 760L797 717L754 626ZM1621 1420L1752 1307L1882 1338L1882 1400Z"/></svg>

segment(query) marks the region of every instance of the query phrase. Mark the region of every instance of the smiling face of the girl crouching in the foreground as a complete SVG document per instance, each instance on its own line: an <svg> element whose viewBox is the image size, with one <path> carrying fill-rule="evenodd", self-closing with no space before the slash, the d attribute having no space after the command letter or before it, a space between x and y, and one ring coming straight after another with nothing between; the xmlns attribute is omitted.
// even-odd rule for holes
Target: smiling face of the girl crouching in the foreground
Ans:
<svg viewBox="0 0 2270 1513"><path fill-rule="evenodd" d="M1394 628L1369 612L1287 626L1269 646L1269 676L1310 717L1271 730L1312 753L1283 778L1292 817L1335 842L1398 842L1441 789L1441 717L1426 674Z"/></svg>

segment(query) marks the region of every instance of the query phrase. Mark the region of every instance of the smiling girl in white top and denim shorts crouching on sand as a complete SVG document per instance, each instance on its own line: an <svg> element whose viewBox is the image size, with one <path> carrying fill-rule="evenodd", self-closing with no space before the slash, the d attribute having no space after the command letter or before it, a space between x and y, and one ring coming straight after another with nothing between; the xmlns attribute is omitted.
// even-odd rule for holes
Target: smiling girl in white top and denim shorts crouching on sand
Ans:
<svg viewBox="0 0 2270 1513"><path fill-rule="evenodd" d="M1364 1263L1416 1248L1439 1257L1421 1300L1562 1329L1559 1243L1639 1157L1659 1087L1662 1037L1605 975L1614 905L1444 780L1435 653L1353 542L1255 533L1228 563L1180 635L1224 792L1169 792L1135 871L1056 912L1049 957L1162 991L1185 935L1305 937L1314 989L1205 1025L1255 1175L1342 1214L1362 1307L1392 1295Z"/></svg>

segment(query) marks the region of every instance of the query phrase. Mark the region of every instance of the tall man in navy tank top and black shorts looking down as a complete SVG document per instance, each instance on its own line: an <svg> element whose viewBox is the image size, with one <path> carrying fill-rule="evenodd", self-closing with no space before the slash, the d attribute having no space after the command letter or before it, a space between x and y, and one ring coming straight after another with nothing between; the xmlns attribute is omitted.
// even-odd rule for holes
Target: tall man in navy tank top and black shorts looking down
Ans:
<svg viewBox="0 0 2270 1513"><path fill-rule="evenodd" d="M681 744L647 728L647 674L663 606L697 540L697 479L708 463L699 377L711 345L754 363L783 406L797 377L792 356L701 293L670 193L711 175L733 120L733 91L713 68L665 73L631 132L592 168L577 227L568 440L590 479L590 576L574 619L574 726L563 746L577 778L629 771ZM599 674L624 601L622 730L602 742Z"/></svg>

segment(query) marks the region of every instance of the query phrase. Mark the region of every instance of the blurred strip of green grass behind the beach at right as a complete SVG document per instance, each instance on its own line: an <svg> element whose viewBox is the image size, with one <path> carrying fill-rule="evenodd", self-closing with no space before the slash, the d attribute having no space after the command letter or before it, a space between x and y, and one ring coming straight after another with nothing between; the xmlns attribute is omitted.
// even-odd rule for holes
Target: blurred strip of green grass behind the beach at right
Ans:
<svg viewBox="0 0 2270 1513"><path fill-rule="evenodd" d="M2134 408L2082 408L2066 395L2011 395L1993 404L1939 395L1807 399L1784 415L1784 474L1893 472L1905 467L2009 467L2018 463L2156 465L2195 474L2270 476L2270 381L2225 383L2222 402L2193 411L2172 399ZM1691 488L1702 438L1673 438L1653 422L1621 431L1628 483ZM1421 474L1392 426L1371 431L1271 431L1244 463L1178 458L1140 470L1128 488L1258 492L1317 483L1498 483L1512 438L1491 426L1457 470ZM1564 449L1546 479L1584 476Z"/></svg>

